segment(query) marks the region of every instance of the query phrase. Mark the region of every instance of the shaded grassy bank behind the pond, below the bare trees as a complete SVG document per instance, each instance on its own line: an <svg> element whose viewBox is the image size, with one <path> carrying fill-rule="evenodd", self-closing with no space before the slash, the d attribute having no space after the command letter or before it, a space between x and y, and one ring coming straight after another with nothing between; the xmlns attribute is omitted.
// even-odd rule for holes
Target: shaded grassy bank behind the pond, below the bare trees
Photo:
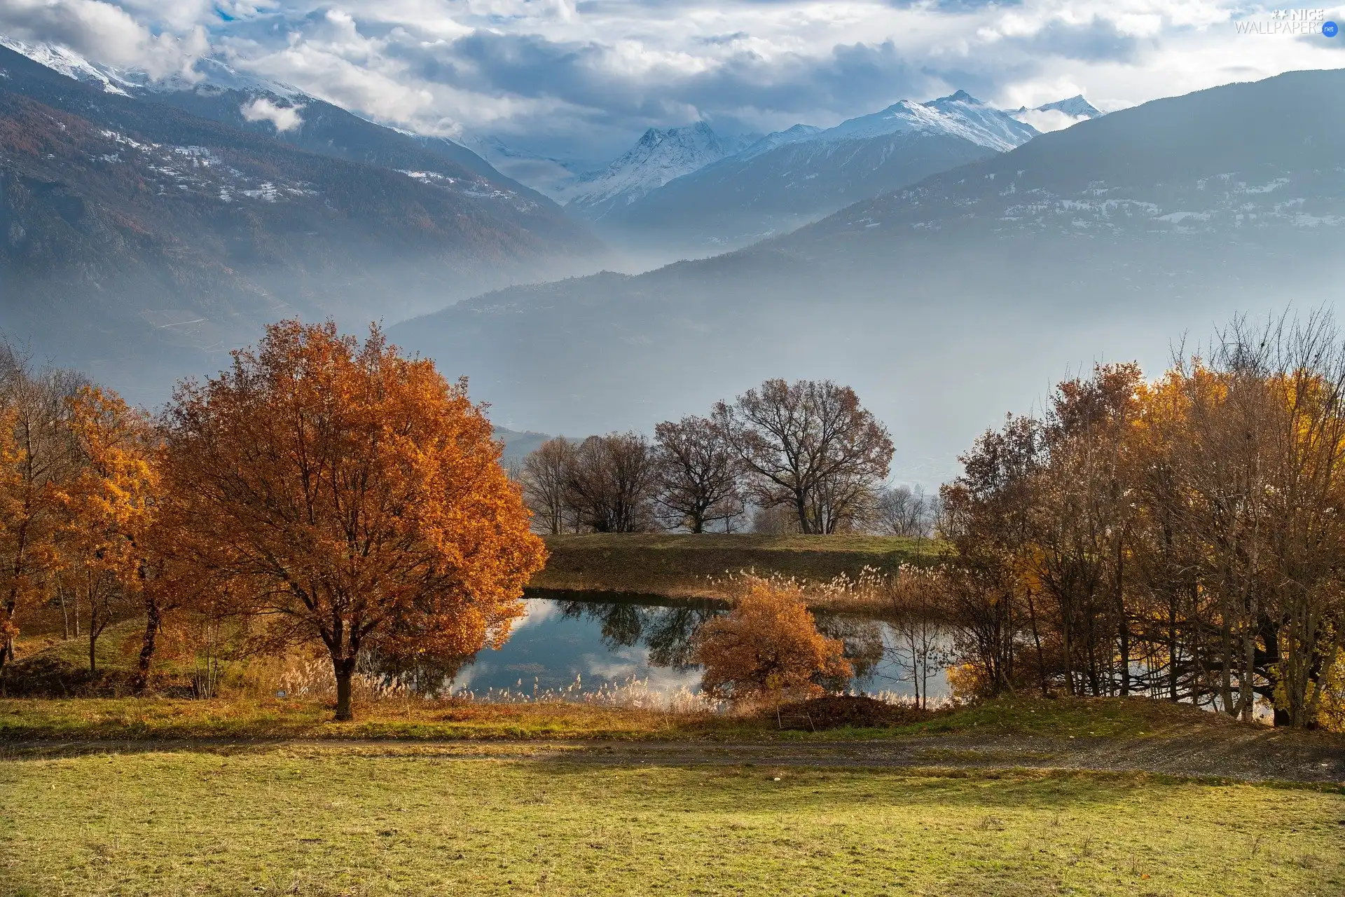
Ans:
<svg viewBox="0 0 1345 897"><path fill-rule="evenodd" d="M535 589L709 596L709 582L756 570L826 582L851 578L865 566L892 570L931 563L944 546L929 539L881 535L753 535L605 533L549 535L550 559L533 577Z"/></svg>

